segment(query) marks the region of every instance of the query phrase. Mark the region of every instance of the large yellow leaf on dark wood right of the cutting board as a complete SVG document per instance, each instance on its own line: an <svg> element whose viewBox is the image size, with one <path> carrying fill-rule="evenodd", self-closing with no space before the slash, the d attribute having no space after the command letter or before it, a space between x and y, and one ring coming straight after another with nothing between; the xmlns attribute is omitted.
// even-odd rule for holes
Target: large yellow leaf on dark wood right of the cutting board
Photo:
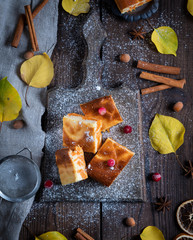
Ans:
<svg viewBox="0 0 193 240"><path fill-rule="evenodd" d="M149 129L152 147L161 154L176 152L184 143L185 128L173 117L156 114Z"/></svg>

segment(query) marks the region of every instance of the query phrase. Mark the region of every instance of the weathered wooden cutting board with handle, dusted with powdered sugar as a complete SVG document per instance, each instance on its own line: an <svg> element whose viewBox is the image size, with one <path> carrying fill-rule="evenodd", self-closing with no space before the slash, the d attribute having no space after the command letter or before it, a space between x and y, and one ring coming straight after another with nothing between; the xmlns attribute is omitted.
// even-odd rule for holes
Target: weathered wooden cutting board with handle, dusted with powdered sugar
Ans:
<svg viewBox="0 0 193 240"><path fill-rule="evenodd" d="M92 18L92 16L91 16ZM100 47L103 31L98 26L98 16L94 15L84 26L84 34L88 47L95 49ZM94 24L94 26L93 26ZM93 29L96 33L93 33ZM92 34L91 34L92 32ZM97 35L97 37L95 36ZM100 35L101 34L101 35ZM91 39L90 39L91 38ZM99 40L99 42L96 41ZM100 40L101 39L101 40ZM96 44L95 47L92 45ZM140 112L138 91L130 91L128 87L122 86L114 90L107 90L101 87L96 91L96 86L100 86L98 72L101 63L96 52L90 52L86 62L87 76L84 84L76 89L66 90L60 88L49 93L48 114L47 114L47 137L45 145L45 161L43 162L44 177L54 182L52 189L43 189L42 201L131 201L144 200L144 166L141 158L140 145ZM93 81L95 79L95 81ZM62 118L68 113L81 113L80 104L93 99L112 95L118 110L124 120L123 123L111 128L110 132L103 134L103 140L112 138L118 143L128 147L135 152L135 156L118 176L116 181L109 187L105 187L92 179L80 181L78 183L62 186L55 163L54 153L62 147ZM133 132L128 136L122 129L125 124L133 128ZM112 170L113 171L113 170Z"/></svg>

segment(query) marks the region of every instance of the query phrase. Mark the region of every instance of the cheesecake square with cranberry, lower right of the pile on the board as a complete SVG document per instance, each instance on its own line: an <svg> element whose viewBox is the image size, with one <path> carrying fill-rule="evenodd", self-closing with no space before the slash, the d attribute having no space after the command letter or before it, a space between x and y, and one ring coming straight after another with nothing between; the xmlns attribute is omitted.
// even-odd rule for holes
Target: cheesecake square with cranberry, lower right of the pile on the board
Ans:
<svg viewBox="0 0 193 240"><path fill-rule="evenodd" d="M88 175L105 186L110 186L135 153L107 138L87 167Z"/></svg>

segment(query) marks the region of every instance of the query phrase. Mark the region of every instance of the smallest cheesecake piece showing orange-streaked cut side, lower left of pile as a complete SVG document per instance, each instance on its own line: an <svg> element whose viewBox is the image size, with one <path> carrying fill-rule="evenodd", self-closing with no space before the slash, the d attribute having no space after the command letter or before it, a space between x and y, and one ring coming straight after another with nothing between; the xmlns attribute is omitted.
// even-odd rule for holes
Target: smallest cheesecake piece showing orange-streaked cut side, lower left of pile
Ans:
<svg viewBox="0 0 193 240"><path fill-rule="evenodd" d="M78 182L88 178L84 152L81 147L63 148L55 153L60 181L62 185Z"/></svg>

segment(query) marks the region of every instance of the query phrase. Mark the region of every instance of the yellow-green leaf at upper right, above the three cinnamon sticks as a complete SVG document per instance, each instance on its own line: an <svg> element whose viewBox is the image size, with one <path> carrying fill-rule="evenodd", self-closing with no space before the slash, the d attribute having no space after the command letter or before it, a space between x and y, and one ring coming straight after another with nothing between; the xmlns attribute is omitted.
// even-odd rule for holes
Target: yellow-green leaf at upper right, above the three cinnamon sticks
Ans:
<svg viewBox="0 0 193 240"><path fill-rule="evenodd" d="M154 29L151 40L155 44L158 52L176 56L178 37L172 28L159 27Z"/></svg>

